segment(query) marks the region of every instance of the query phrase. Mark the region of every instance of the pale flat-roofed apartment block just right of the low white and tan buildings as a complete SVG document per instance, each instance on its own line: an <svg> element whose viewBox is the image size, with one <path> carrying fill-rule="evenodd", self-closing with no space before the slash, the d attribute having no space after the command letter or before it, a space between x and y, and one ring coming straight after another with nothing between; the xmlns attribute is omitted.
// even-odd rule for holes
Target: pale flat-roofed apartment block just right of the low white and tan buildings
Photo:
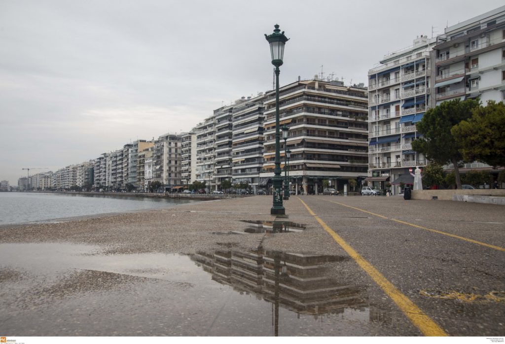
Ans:
<svg viewBox="0 0 505 344"><path fill-rule="evenodd" d="M166 191L181 187L181 154L182 135L164 134L154 144L154 176L153 182L163 184Z"/></svg>

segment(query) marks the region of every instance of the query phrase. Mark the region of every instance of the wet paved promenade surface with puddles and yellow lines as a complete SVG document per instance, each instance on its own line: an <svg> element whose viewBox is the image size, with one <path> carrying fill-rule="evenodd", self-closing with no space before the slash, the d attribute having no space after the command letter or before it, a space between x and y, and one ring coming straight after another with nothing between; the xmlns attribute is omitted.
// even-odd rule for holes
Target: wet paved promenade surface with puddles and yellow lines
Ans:
<svg viewBox="0 0 505 344"><path fill-rule="evenodd" d="M502 206L292 196L275 218L271 204L255 196L3 229L0 332L505 334Z"/></svg>

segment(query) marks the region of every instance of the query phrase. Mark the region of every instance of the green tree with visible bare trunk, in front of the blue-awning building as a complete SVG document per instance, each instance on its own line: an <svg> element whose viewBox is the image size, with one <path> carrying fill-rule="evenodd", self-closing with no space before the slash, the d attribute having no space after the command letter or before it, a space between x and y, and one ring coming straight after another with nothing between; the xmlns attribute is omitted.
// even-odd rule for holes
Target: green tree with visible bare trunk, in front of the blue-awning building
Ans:
<svg viewBox="0 0 505 344"><path fill-rule="evenodd" d="M444 101L424 114L417 124L417 131L424 137L412 143L412 149L423 153L427 159L444 165L452 162L456 176L456 185L461 189L461 177L458 162L463 160L461 144L451 134L451 129L461 121L472 116L472 110L479 106L479 101L453 99Z"/></svg>

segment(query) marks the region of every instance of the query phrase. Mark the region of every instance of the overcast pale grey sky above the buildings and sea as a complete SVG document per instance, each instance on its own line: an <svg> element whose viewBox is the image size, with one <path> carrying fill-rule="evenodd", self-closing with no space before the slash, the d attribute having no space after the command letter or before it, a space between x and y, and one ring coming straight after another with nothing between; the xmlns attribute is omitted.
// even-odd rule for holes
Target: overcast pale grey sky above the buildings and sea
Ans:
<svg viewBox="0 0 505 344"><path fill-rule="evenodd" d="M385 54L502 4L0 0L0 180L189 131L222 104L272 89L264 34L276 23L290 38L281 85L321 66L366 84Z"/></svg>

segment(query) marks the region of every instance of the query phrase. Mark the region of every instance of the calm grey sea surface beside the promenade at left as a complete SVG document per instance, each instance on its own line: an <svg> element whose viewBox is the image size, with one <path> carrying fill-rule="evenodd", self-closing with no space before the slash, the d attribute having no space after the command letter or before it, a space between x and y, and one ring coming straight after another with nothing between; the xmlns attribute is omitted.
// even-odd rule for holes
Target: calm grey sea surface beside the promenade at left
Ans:
<svg viewBox="0 0 505 344"><path fill-rule="evenodd" d="M0 226L74 216L168 208L192 200L0 192Z"/></svg>

